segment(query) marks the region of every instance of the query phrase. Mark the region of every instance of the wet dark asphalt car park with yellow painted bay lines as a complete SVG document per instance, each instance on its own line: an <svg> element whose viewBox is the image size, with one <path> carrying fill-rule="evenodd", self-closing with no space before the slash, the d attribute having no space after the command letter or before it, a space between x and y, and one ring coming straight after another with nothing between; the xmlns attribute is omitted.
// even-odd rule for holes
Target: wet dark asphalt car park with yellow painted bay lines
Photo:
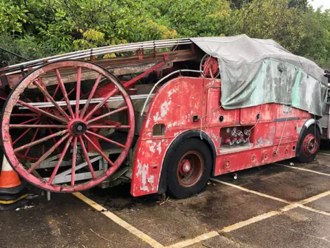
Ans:
<svg viewBox="0 0 330 248"><path fill-rule="evenodd" d="M120 185L47 201L32 188L33 207L0 212L0 247L330 247L330 156L290 163L218 176L180 200Z"/></svg>

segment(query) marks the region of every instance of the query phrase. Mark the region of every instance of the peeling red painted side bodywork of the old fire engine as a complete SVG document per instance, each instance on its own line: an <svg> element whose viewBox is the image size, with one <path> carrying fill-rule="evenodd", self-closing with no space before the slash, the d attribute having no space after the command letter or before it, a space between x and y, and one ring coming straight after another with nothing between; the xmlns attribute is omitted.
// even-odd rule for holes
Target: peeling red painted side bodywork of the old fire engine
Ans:
<svg viewBox="0 0 330 248"><path fill-rule="evenodd" d="M137 143L139 152L134 158L131 183L133 196L157 193L166 151L170 143L187 130L202 130L212 140L217 152L214 176L296 156L295 147L300 134L297 127L301 129L305 121L311 118L310 114L294 108L289 113L283 113L283 105L274 103L224 110L220 99L219 79L178 77L157 92ZM192 121L193 116L197 116L198 120ZM220 121L220 116L223 121ZM283 121L283 118L289 118L289 121ZM166 127L162 138L152 136L153 125L157 123L163 123ZM224 147L221 130L227 127L252 128L250 146L221 148ZM160 166L152 169L153 164ZM148 165L146 174L138 173L142 165ZM153 183L148 180L150 176L153 176Z"/></svg>

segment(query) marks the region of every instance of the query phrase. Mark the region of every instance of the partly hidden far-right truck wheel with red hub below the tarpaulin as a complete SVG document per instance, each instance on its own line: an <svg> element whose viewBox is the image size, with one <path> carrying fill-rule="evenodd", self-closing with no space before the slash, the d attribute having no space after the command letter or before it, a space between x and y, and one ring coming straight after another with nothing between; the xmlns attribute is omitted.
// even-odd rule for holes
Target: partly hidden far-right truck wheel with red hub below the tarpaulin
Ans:
<svg viewBox="0 0 330 248"><path fill-rule="evenodd" d="M301 137L300 154L296 157L298 163L309 163L314 161L318 149L320 148L320 132L315 125L311 125Z"/></svg>

